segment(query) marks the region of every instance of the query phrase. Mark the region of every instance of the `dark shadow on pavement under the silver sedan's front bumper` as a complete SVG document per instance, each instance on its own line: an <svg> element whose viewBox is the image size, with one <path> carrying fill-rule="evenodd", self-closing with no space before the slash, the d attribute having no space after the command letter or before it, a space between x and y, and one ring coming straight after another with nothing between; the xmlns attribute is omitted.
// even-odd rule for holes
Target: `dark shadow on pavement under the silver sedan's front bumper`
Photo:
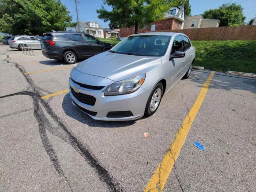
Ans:
<svg viewBox="0 0 256 192"><path fill-rule="evenodd" d="M70 116L71 118L78 120L79 122L83 124L87 124L91 127L103 127L103 128L115 128L115 127L126 127L131 126L136 121L99 121L94 120L84 112L80 111L76 106L74 106L71 103L71 96L69 93L67 93L62 101L62 108L67 116Z"/></svg>

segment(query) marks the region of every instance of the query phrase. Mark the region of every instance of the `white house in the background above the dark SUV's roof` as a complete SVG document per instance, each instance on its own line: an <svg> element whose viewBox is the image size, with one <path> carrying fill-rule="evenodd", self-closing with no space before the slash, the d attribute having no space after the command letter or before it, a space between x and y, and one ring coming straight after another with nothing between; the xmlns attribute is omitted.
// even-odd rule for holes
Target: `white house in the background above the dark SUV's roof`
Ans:
<svg viewBox="0 0 256 192"><path fill-rule="evenodd" d="M84 32L94 37L104 38L103 28L95 21L79 21L80 32ZM76 24L76 31L78 31L78 24Z"/></svg>

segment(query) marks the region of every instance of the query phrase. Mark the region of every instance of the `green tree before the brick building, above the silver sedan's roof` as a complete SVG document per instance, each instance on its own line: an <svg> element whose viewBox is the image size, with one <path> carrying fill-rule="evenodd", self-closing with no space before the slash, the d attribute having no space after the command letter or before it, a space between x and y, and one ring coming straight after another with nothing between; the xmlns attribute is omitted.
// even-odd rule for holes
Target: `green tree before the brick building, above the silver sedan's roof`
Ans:
<svg viewBox="0 0 256 192"><path fill-rule="evenodd" d="M104 0L104 4L112 6L112 11L102 6L97 10L98 18L120 27L135 26L136 34L138 26L163 19L174 2L173 0Z"/></svg>

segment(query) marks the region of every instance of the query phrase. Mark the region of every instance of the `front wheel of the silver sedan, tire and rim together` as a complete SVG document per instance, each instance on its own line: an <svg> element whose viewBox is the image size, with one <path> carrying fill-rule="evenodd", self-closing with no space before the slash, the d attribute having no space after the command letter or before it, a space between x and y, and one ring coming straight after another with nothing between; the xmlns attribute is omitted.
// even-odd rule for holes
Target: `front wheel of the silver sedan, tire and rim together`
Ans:
<svg viewBox="0 0 256 192"><path fill-rule="evenodd" d="M156 112L162 100L163 94L164 94L164 87L162 83L158 83L154 87L153 91L151 92L148 98L144 116L149 117Z"/></svg>

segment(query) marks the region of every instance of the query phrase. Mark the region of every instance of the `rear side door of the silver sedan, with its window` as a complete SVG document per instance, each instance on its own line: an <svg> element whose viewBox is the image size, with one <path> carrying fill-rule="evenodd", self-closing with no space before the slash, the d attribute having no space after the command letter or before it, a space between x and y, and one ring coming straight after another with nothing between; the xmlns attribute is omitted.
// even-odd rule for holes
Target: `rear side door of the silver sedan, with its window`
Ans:
<svg viewBox="0 0 256 192"><path fill-rule="evenodd" d="M184 75L188 71L190 64L192 62L193 51L191 49L190 41L186 36L182 36L182 44L183 44L183 51L185 52L184 69L182 70L182 74Z"/></svg>

